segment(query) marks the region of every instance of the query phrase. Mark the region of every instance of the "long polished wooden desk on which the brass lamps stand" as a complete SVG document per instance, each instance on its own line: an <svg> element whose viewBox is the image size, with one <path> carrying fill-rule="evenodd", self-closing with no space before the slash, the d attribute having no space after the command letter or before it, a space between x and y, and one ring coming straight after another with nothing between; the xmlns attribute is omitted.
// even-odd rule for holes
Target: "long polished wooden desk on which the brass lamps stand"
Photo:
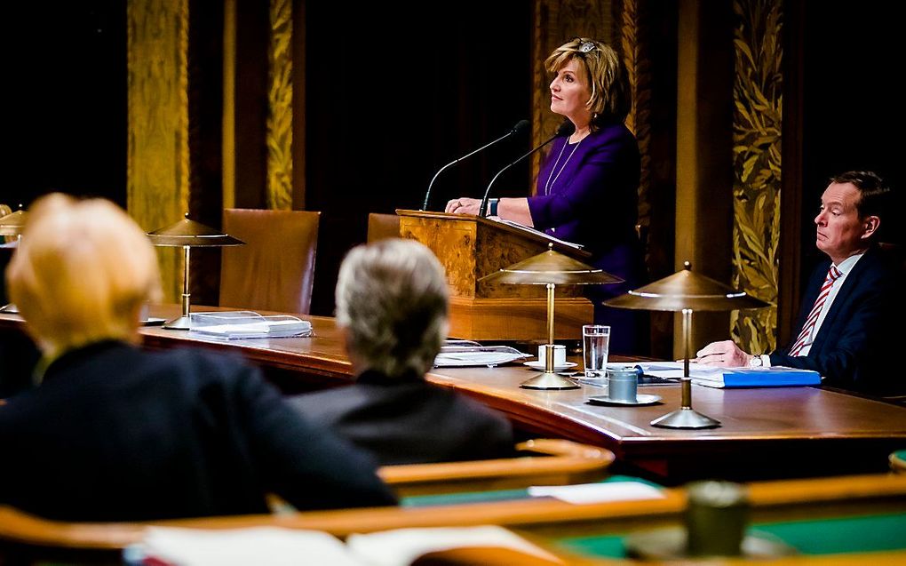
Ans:
<svg viewBox="0 0 906 566"><path fill-rule="evenodd" d="M175 308L154 315L175 314ZM312 387L348 383L352 368L342 352L333 319L309 317L307 339L206 341L185 331L141 331L151 348L195 344L240 351L283 383ZM21 330L21 320L0 314L0 331ZM883 472L887 456L906 446L906 408L815 388L708 389L693 387L693 406L722 427L671 430L649 424L679 408L679 388L646 392L663 397L651 407L597 407L583 390L519 389L532 375L523 366L435 369L428 379L458 389L502 411L517 428L539 436L564 437L612 450L615 472L640 474L664 484L722 477L737 481Z"/></svg>

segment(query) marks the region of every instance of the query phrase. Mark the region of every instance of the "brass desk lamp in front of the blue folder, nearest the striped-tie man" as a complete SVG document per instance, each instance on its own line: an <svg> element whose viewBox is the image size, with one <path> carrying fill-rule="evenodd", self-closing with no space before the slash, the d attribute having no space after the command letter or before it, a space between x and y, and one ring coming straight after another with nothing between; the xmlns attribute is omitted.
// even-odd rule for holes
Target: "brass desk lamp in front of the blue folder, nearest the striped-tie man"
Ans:
<svg viewBox="0 0 906 566"><path fill-rule="evenodd" d="M629 293L614 297L604 304L622 309L642 311L682 312L683 377L682 405L678 410L651 421L663 428L716 428L720 421L702 415L692 408L692 379L689 378L689 334L692 331L693 311L735 311L760 309L768 303L736 291L727 285L692 272L692 264L659 281L649 283Z"/></svg>

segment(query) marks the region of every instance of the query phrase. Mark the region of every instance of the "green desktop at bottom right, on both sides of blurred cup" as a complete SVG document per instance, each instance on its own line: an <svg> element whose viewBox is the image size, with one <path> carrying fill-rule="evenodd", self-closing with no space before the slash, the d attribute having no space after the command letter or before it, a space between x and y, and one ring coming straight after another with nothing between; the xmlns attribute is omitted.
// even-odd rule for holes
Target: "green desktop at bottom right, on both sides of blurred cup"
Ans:
<svg viewBox="0 0 906 566"><path fill-rule="evenodd" d="M803 554L843 554L906 549L906 513L787 523L755 523L750 531L776 536ZM559 539L554 545L586 556L625 558L622 536Z"/></svg>

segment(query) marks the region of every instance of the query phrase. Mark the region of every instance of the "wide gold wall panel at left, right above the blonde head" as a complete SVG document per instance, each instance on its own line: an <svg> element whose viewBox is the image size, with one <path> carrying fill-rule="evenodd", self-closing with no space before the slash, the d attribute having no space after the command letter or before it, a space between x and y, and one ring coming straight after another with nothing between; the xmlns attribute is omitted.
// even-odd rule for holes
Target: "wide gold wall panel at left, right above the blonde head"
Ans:
<svg viewBox="0 0 906 566"><path fill-rule="evenodd" d="M188 211L188 0L127 3L127 204L145 230ZM168 301L181 293L182 254L159 248Z"/></svg>

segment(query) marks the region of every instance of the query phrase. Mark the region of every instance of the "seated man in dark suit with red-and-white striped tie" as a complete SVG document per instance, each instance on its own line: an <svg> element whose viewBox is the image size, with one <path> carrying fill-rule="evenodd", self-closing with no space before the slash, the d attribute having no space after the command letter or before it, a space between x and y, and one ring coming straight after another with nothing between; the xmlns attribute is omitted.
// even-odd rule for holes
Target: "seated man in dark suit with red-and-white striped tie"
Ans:
<svg viewBox="0 0 906 566"><path fill-rule="evenodd" d="M902 266L878 245L882 216L895 214L892 191L870 171L831 179L814 218L815 245L827 254L809 280L795 340L770 355L733 341L699 350L706 365L814 369L823 383L891 395L906 390L892 354L902 348Z"/></svg>

